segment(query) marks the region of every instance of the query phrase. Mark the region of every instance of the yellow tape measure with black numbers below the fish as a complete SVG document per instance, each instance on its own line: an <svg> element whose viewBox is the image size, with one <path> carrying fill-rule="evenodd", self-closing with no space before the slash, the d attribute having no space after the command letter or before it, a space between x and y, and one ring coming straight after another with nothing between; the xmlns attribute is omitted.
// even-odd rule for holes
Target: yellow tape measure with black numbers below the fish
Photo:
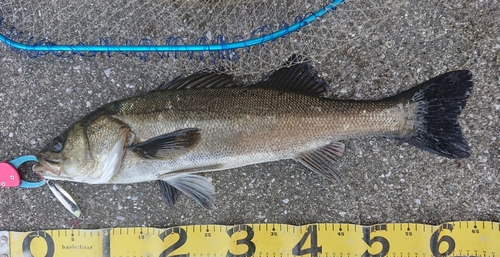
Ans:
<svg viewBox="0 0 500 257"><path fill-rule="evenodd" d="M0 232L0 256L432 257L500 253L500 223L247 224Z"/></svg>

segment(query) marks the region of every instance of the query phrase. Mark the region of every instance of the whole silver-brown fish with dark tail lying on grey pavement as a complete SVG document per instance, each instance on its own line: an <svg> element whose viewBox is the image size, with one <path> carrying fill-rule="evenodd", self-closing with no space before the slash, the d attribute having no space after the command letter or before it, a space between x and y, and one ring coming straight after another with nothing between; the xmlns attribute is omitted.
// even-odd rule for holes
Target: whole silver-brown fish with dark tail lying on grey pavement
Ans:
<svg viewBox="0 0 500 257"><path fill-rule="evenodd" d="M199 173L294 159L341 181L342 141L351 138L394 138L451 159L470 156L458 123L472 92L470 71L379 100L336 100L311 64L296 59L252 85L197 72L105 104L52 139L33 170L89 184L157 181L169 206L182 192L213 210L215 188Z"/></svg>

